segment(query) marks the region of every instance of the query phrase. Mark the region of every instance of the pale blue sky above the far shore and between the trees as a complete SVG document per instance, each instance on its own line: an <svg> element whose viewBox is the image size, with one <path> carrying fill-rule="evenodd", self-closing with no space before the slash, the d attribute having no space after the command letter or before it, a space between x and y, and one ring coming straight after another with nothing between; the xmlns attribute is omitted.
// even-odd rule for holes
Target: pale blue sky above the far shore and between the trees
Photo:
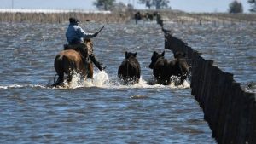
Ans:
<svg viewBox="0 0 256 144"><path fill-rule="evenodd" d="M229 4L234 0L170 0L172 9L186 12L227 12ZM250 5L247 0L241 2L244 12L248 12ZM12 2L14 4L12 4ZM84 9L96 10L93 5L96 0L0 0L0 9ZM116 0L116 2L131 3L136 9L146 9L137 0Z"/></svg>

